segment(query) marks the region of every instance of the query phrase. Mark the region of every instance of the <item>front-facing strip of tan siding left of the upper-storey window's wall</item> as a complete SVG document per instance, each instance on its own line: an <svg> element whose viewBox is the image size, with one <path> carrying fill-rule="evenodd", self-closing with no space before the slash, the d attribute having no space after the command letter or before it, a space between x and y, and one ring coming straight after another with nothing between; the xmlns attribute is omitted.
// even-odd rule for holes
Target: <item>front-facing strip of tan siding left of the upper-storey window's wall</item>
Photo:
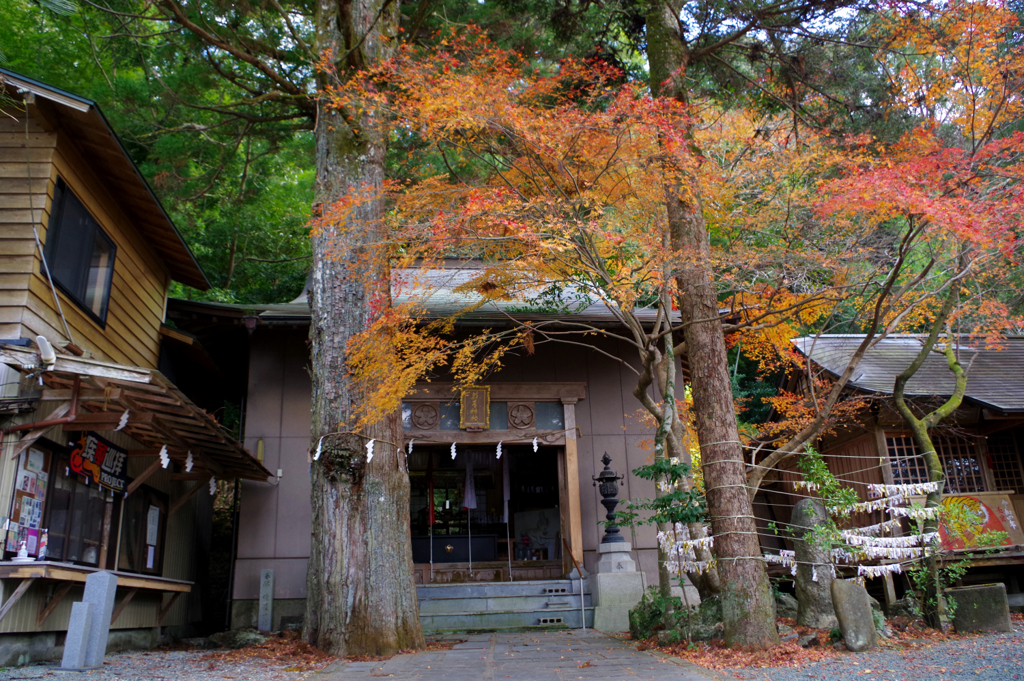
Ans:
<svg viewBox="0 0 1024 681"><path fill-rule="evenodd" d="M57 137L29 121L0 117L0 338L22 336L29 283L38 258L32 233L49 205L47 190ZM31 177L30 177L31 175ZM34 209L34 213L33 213Z"/></svg>

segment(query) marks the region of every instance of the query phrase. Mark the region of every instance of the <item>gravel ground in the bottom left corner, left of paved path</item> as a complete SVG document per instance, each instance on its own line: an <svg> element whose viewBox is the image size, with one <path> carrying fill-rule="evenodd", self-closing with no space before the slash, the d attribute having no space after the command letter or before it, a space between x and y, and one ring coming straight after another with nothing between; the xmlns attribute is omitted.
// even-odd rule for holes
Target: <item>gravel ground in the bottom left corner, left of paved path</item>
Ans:
<svg viewBox="0 0 1024 681"><path fill-rule="evenodd" d="M59 664L59 663L57 663ZM267 659L256 657L239 662L225 662L211 656L210 650L153 650L146 652L124 652L106 655L106 664L101 670L89 672L65 672L53 668L52 663L29 667L0 669L0 681L8 679L118 679L124 681L148 681L148 679L171 679L173 681L223 681L244 679L245 681L299 681L315 674L315 671L289 672L288 665L274 665Z"/></svg>

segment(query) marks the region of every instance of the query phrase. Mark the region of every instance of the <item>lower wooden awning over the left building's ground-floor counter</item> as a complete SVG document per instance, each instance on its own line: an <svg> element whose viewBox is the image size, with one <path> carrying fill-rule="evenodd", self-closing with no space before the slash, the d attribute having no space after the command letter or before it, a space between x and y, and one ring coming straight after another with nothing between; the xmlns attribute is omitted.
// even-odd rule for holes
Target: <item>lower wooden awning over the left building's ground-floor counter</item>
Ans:
<svg viewBox="0 0 1024 681"><path fill-rule="evenodd" d="M129 456L155 458L166 446L170 458L183 465L190 452L196 479L264 481L270 476L223 426L159 371L68 355L57 355L56 364L44 371L35 350L3 344L0 361L23 375L41 376L38 399L53 406L50 411L44 407L48 415L42 417L40 428L20 427L15 455L49 427L42 424L72 413L74 420L63 424L68 430L120 430L143 445ZM127 422L119 428L125 413ZM154 465L159 466L160 460Z"/></svg>

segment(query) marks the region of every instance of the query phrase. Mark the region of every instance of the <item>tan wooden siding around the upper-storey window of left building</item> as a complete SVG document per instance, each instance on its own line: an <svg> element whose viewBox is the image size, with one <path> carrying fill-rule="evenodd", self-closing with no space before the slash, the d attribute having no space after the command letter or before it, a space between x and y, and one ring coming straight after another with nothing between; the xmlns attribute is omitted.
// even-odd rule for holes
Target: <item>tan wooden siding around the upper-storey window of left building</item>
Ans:
<svg viewBox="0 0 1024 681"><path fill-rule="evenodd" d="M0 337L41 334L55 341L65 339L32 235L35 215L39 237L46 243L50 203L59 176L117 246L105 328L58 292L75 343L98 359L156 368L170 284L167 267L135 230L132 219L98 180L74 141L62 133L46 133L35 119L30 118L29 124L35 133L30 143L39 144L30 153L39 161L27 167L17 161L25 151L24 119L0 122L0 144L8 144L0 145L0 197L7 197L4 201L11 205L0 208ZM13 129L22 131L20 137ZM30 170L31 197L26 194ZM35 213L29 210L30 201Z"/></svg>

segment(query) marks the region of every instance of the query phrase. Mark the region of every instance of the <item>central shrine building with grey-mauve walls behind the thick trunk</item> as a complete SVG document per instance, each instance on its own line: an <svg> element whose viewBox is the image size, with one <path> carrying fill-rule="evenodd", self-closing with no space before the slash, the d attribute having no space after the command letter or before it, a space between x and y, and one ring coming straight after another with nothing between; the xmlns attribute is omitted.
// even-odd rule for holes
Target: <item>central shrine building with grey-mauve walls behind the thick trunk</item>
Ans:
<svg viewBox="0 0 1024 681"><path fill-rule="evenodd" d="M467 301L455 289L472 263L430 276L429 314L447 315ZM422 275L422 274L421 274ZM401 300L399 299L399 303ZM511 307L512 303L508 303ZM505 303L488 303L460 322L467 333L505 324ZM256 622L262 570L274 571L273 623L297 625L304 612L310 550L309 307L291 303L254 309L172 300L168 317L213 346L225 329L252 329L249 363L237 379L248 384L245 443L279 476L271 485L243 483L232 626ZM599 302L572 313L577 322L614 327ZM563 580L573 559L592 570L605 515L594 485L607 453L626 474L621 499L652 498L653 483L630 471L645 463L652 430L633 395L637 376L624 364L635 349L610 339L580 345L539 343L532 354L511 352L500 372L468 393L443 379L417 387L402 409L412 486L412 551L420 585L498 583L577 590ZM622 357L623 360L616 359ZM499 458L499 453L501 456ZM656 584L656 533L639 527L633 558L646 584ZM421 621L426 621L421 588ZM691 598L695 591L688 590ZM579 597L574 601L579 615ZM567 615L568 616L568 615ZM557 618L554 618L557 619ZM569 621L565 620L567 624ZM537 625L523 621L523 625ZM490 623L488 626L497 626ZM579 624L574 626L579 627Z"/></svg>

